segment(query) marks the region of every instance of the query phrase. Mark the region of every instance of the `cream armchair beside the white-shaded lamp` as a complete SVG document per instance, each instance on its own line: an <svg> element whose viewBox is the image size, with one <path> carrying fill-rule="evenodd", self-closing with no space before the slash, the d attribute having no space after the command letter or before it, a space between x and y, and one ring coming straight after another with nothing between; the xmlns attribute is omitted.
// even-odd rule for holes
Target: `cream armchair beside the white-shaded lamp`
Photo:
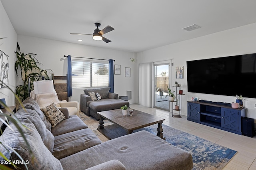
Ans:
<svg viewBox="0 0 256 170"><path fill-rule="evenodd" d="M46 107L52 103L56 105L56 107L65 107L68 109L69 115L79 115L79 103L78 101L66 101L61 102L58 99L58 95L56 91L51 93L42 93L35 94L34 90L31 91L30 97L36 100L40 107Z"/></svg>

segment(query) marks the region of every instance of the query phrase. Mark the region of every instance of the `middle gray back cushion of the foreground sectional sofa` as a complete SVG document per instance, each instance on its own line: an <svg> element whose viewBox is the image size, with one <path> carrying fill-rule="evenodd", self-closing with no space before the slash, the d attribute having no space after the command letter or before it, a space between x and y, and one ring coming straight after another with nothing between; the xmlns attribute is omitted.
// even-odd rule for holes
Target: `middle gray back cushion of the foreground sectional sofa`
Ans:
<svg viewBox="0 0 256 170"><path fill-rule="evenodd" d="M42 141L44 142L44 145L48 150L52 153L53 146L54 146L54 136L53 134L45 127L42 119L39 117L39 115L36 113L36 111L33 110L31 107L30 109L25 106L26 110L20 109L18 112L15 113L16 117L18 119L29 119L34 126L36 127L36 130L40 134Z"/></svg>

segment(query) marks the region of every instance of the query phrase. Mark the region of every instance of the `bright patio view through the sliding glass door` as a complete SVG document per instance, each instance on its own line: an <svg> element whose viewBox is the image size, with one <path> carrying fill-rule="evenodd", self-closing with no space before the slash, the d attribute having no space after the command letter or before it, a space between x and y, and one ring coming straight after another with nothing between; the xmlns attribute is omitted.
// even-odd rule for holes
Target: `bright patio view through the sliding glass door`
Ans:
<svg viewBox="0 0 256 170"><path fill-rule="evenodd" d="M169 110L169 64L154 65L154 107Z"/></svg>

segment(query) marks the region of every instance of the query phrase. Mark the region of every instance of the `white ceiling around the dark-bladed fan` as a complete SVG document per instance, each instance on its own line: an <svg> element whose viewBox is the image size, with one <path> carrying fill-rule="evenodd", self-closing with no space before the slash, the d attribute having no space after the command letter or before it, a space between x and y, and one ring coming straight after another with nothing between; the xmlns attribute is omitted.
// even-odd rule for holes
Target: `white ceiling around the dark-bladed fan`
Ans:
<svg viewBox="0 0 256 170"><path fill-rule="evenodd" d="M252 24L256 0L1 0L18 35L138 52ZM110 43L95 41L95 22ZM182 28L197 24L200 29ZM78 42L82 39L82 42Z"/></svg>

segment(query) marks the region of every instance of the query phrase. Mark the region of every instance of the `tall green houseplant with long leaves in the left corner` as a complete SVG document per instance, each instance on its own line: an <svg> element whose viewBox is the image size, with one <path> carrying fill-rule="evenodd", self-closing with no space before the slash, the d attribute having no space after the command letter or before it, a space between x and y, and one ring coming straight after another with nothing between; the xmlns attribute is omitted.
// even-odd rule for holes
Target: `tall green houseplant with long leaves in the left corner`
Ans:
<svg viewBox="0 0 256 170"><path fill-rule="evenodd" d="M29 97L28 90L28 81L30 81L30 91L33 90L33 81L38 80L39 76L44 76L46 79L50 79L48 76L47 70L43 70L38 67L39 63L36 57L37 54L28 53L24 54L20 51L20 46L17 43L17 51L16 53L16 62L15 62L15 72L16 75L22 79L23 85L18 85L16 87L16 95L19 97L21 101L24 101ZM50 70L52 71L52 70Z"/></svg>

